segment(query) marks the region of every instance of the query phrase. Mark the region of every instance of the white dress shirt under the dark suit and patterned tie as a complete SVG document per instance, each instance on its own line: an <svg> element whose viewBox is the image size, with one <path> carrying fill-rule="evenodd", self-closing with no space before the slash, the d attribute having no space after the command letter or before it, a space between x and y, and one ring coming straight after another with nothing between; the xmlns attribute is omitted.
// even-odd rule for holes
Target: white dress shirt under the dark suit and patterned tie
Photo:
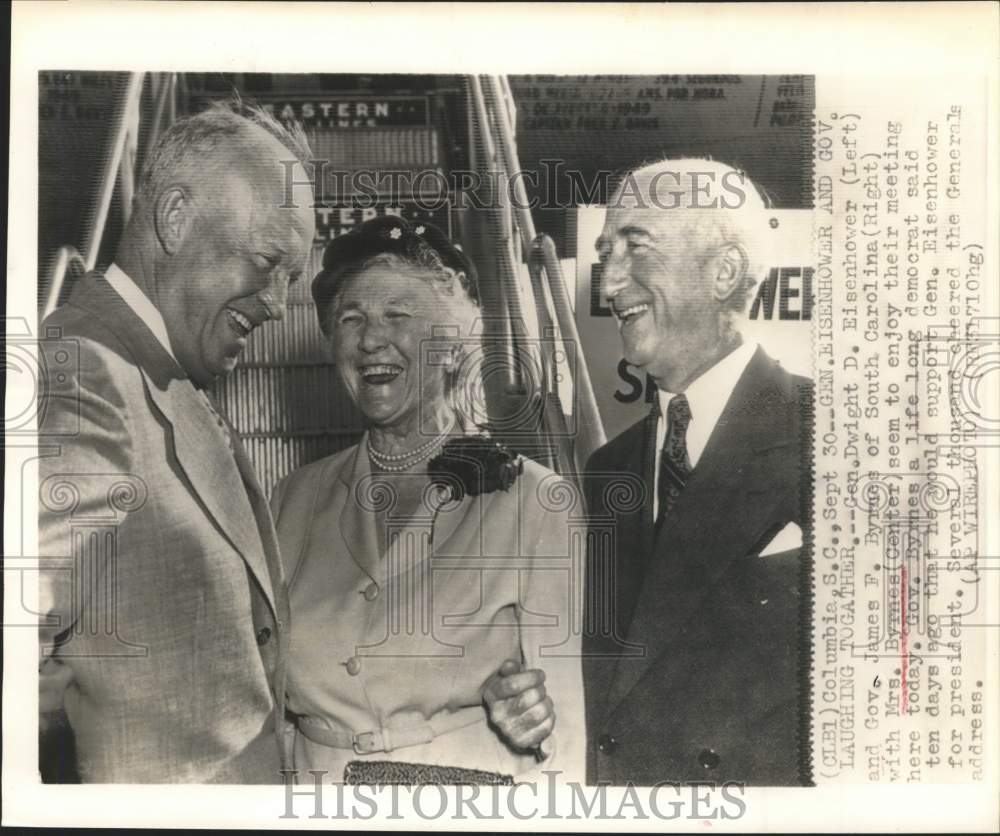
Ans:
<svg viewBox="0 0 1000 836"><path fill-rule="evenodd" d="M746 370L757 350L757 343L747 340L735 351L731 351L708 371L698 377L684 393L691 407L691 422L688 424L685 443L692 470L698 466L705 445L719 423L719 416L726 408L736 383ZM667 407L670 399L678 393L660 390L660 420L656 424L656 463L653 469L653 519L660 513L660 455L667 435Z"/></svg>

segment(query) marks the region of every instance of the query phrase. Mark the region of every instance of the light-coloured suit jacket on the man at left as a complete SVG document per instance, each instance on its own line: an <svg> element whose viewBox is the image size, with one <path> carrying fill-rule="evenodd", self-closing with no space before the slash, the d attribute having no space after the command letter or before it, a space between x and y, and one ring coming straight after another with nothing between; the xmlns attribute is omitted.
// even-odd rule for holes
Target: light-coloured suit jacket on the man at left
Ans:
<svg viewBox="0 0 1000 836"><path fill-rule="evenodd" d="M279 782L288 604L249 461L98 276L42 325L41 638L98 782Z"/></svg>

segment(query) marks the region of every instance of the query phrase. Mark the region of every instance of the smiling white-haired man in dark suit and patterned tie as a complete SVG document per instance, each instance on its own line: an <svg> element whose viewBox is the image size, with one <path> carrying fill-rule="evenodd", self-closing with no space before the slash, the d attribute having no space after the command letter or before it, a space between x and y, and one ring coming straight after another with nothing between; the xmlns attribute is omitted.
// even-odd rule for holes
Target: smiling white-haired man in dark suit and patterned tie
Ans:
<svg viewBox="0 0 1000 836"><path fill-rule="evenodd" d="M768 228L739 172L667 160L626 178L597 242L624 356L659 399L587 467L593 531L610 534L588 554L591 783L805 774L809 382L741 335ZM629 482L646 488L631 505Z"/></svg>

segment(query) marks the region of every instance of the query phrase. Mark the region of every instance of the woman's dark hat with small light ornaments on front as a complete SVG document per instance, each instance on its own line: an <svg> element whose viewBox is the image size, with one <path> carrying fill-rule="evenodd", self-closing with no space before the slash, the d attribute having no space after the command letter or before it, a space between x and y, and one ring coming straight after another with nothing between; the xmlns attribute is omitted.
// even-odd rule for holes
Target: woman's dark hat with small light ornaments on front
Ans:
<svg viewBox="0 0 1000 836"><path fill-rule="evenodd" d="M320 323L336 295L343 270L372 256L393 253L406 259L419 259L427 251L437 255L445 267L465 274L462 287L479 304L479 276L469 257L448 240L436 226L424 221L410 223L395 215L365 221L344 235L338 235L323 252L323 269L312 283L313 300Z"/></svg>

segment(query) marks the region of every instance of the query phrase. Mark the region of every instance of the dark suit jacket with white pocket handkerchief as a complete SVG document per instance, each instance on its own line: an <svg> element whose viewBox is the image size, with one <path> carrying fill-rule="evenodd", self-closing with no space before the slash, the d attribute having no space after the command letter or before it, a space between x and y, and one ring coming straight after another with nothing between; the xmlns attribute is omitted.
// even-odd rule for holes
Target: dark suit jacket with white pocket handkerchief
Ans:
<svg viewBox="0 0 1000 836"><path fill-rule="evenodd" d="M804 780L805 564L759 552L808 530L809 385L758 349L655 537L655 415L591 457L589 782Z"/></svg>

